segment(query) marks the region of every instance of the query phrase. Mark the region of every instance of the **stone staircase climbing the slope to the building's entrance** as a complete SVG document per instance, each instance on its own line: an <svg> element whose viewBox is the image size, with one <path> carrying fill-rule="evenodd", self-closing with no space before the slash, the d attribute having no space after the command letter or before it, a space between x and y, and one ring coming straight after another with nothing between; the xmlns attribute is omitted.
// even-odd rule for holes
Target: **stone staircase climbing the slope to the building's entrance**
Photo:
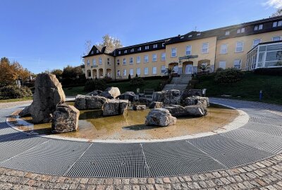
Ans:
<svg viewBox="0 0 282 190"><path fill-rule="evenodd" d="M192 79L191 75L180 75L180 77L173 77L170 84L166 84L163 90L178 89L183 91L186 89L189 81Z"/></svg>

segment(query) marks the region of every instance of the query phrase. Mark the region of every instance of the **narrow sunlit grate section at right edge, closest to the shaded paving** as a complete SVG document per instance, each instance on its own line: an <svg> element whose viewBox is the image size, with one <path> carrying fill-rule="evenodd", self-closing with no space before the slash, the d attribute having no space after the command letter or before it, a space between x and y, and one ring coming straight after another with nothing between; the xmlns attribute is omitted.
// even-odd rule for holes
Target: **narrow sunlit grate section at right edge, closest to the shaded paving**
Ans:
<svg viewBox="0 0 282 190"><path fill-rule="evenodd" d="M272 134L277 137L282 137L282 127L276 125L266 125L257 122L248 122L243 126L244 129L251 129L256 132Z"/></svg>

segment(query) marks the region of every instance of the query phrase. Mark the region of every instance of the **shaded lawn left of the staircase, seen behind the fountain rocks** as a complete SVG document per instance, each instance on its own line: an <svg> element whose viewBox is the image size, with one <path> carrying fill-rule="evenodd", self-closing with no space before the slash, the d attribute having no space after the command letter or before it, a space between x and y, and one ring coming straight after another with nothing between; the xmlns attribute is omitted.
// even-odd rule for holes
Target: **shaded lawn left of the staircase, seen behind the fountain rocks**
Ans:
<svg viewBox="0 0 282 190"><path fill-rule="evenodd" d="M159 90L159 82L161 80L145 80L144 85L140 87L140 93L144 89L155 89L155 91ZM108 83L108 87L118 87L121 93L125 91L134 91L136 92L137 87L131 87L130 82L118 82L118 83ZM83 91L84 87L72 87L72 88L64 88L66 96L76 96L77 94L87 94L87 92Z"/></svg>

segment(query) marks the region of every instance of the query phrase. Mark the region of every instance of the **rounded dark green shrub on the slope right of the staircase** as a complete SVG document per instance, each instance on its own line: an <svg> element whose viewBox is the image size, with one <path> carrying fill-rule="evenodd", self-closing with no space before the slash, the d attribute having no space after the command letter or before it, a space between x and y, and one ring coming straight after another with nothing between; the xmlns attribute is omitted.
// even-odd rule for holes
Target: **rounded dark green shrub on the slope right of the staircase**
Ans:
<svg viewBox="0 0 282 190"><path fill-rule="evenodd" d="M243 72L236 68L227 68L216 72L214 81L217 83L233 83L238 82L242 79Z"/></svg>

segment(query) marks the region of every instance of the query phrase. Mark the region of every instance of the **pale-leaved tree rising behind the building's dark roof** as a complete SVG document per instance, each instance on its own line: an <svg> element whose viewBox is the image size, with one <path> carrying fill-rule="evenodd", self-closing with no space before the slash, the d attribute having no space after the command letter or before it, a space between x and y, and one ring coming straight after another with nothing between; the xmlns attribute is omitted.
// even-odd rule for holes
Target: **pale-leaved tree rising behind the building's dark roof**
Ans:
<svg viewBox="0 0 282 190"><path fill-rule="evenodd" d="M111 37L109 34L104 35L102 39L103 41L96 45L99 50L106 46L106 50L112 52L115 49L123 47L120 39Z"/></svg>

